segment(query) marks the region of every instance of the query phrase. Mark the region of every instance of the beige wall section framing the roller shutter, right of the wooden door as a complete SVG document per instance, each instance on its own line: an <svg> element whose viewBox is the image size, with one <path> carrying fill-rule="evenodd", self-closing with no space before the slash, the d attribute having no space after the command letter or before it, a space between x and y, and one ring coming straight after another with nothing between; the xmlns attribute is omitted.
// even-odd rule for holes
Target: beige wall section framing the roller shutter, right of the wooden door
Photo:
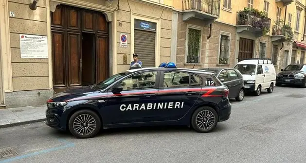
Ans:
<svg viewBox="0 0 306 163"><path fill-rule="evenodd" d="M156 62L159 65L162 62L170 61L170 47L171 47L171 27L172 27L172 9L166 7L159 7L143 3L136 0L121 0L120 11L118 11L117 21L122 26L118 26L117 30L117 72L123 72L129 69L132 61L131 54L134 53L133 44L133 30L134 18L143 19L157 23L156 30ZM127 34L127 48L120 47L120 34ZM139 55L139 60L141 60ZM127 58L124 63L124 57Z"/></svg>

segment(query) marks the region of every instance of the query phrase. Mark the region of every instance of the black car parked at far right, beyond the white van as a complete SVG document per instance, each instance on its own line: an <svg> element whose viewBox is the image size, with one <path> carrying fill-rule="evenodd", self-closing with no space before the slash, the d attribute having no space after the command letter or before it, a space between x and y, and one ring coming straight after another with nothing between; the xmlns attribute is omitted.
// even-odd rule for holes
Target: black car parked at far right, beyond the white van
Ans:
<svg viewBox="0 0 306 163"><path fill-rule="evenodd" d="M282 72L276 75L276 86L299 85L306 88L306 65L305 64L290 64Z"/></svg>

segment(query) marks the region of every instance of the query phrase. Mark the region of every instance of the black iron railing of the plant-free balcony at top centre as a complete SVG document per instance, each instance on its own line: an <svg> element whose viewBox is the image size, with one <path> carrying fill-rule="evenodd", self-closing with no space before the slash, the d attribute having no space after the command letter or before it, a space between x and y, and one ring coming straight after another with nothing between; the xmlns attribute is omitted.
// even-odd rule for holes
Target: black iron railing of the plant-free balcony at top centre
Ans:
<svg viewBox="0 0 306 163"><path fill-rule="evenodd" d="M220 15L221 0L183 0L182 10L198 10L214 16Z"/></svg>

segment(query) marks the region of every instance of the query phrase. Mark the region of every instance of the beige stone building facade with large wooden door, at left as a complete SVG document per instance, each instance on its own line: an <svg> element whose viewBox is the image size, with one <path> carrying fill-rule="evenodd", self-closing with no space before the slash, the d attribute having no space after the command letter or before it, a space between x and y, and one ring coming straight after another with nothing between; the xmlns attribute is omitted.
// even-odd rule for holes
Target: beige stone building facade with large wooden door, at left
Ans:
<svg viewBox="0 0 306 163"><path fill-rule="evenodd" d="M37 1L0 0L0 107L170 61L172 0Z"/></svg>

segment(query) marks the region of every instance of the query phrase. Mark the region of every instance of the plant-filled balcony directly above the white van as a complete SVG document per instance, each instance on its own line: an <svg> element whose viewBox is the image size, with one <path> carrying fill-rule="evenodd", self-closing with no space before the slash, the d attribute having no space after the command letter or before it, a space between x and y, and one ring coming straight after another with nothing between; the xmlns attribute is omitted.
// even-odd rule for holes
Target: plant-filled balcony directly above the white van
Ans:
<svg viewBox="0 0 306 163"><path fill-rule="evenodd" d="M237 33L248 33L260 37L270 32L271 19L255 9L237 12Z"/></svg>

